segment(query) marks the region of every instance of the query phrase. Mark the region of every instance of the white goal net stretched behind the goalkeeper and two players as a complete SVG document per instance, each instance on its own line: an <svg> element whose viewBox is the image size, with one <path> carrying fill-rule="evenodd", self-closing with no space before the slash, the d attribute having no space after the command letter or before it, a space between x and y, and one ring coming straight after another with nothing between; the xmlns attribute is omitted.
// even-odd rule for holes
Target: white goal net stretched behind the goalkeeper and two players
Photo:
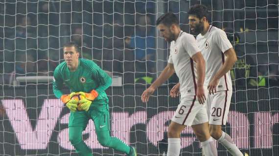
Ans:
<svg viewBox="0 0 279 156"><path fill-rule="evenodd" d="M113 78L107 89L111 135L139 156L166 154L167 127L179 98L176 76L142 103L142 92L162 72L169 44L155 21L175 13L191 33L187 12L209 8L210 24L224 29L238 60L223 130L251 156L279 153L279 6L277 0L0 0L0 156L76 156L68 137L70 111L52 92L63 45L74 41ZM69 93L67 87L64 93ZM94 156L124 156L103 148L89 122L83 140ZM219 156L230 156L216 143ZM181 156L200 156L191 128L181 134Z"/></svg>

